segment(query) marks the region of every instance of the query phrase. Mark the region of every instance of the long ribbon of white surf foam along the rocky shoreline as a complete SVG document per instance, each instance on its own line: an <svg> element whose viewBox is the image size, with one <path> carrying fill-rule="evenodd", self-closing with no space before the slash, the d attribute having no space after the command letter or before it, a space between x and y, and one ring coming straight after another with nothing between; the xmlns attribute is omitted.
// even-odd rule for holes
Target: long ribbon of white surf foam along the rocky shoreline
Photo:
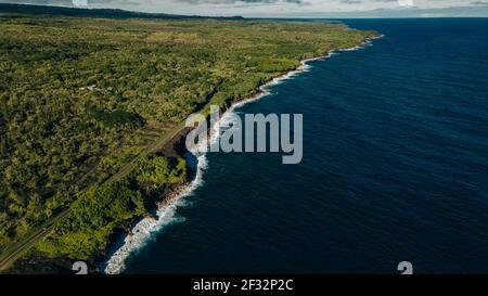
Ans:
<svg viewBox="0 0 488 296"><path fill-rule="evenodd" d="M381 36L378 38L382 38L382 37L383 36ZM234 120L239 119L236 117L236 116L239 116L237 112L235 112L236 108L242 107L245 104L248 104L251 102L257 101L266 95L271 94L271 92L268 90L268 87L279 85L283 80L292 79L293 77L297 76L300 73L310 70L311 66L308 64L309 62L326 60L326 59L331 57L332 55L335 55L342 51L354 51L354 50L363 49L368 46L371 46L370 40L372 40L372 39L377 39L377 38L368 39L360 47L330 51L324 56L304 60L304 61L301 61L300 65L295 70L291 70L291 72L286 73L285 75L273 78L268 83L261 86L259 88L259 92L256 95L254 95L247 100L243 100L243 101L234 103L221 116L220 121L217 123L214 127L211 127L211 131L210 131L211 137L209 139L209 144L213 144L213 143L216 143L217 141L219 141L220 134L223 131L223 130L220 130L220 125L223 128L229 128L229 127L233 126L230 124L232 124L232 123L234 123ZM207 145L207 142L203 141L202 145ZM196 149L196 151L202 151L202 150ZM151 240L154 240L154 234L156 234L158 231L160 231L166 226L182 222L185 220L184 217L178 216L176 210L180 206L188 205L188 202L185 202L184 197L191 196L197 188L200 188L202 184L204 184L203 176L204 176L205 170L208 168L206 153L195 152L195 157L197 159L197 168L196 168L195 178L192 180L192 182L176 198L174 198L171 202L165 204L163 207L157 209L157 211L156 211L156 215L158 217L157 220L154 220L151 218L143 218L141 221L139 221L132 228L132 231L131 231L132 234L124 237L123 242L120 242L120 246L113 253L113 255L104 263L104 268L103 268L104 273L108 273L108 274L120 273L126 268L126 266L125 266L126 259L134 252L141 249L141 247L143 247L147 242L150 242Z"/></svg>

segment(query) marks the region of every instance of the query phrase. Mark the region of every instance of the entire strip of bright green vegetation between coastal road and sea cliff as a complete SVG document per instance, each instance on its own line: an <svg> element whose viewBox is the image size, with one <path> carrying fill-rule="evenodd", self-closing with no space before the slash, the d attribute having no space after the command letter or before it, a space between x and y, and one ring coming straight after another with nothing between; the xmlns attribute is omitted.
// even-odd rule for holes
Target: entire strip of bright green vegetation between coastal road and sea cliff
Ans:
<svg viewBox="0 0 488 296"><path fill-rule="evenodd" d="M156 154L141 157L138 168L128 177L80 192L69 216L55 224L53 234L36 245L36 252L47 257L92 258L105 249L117 226L146 213L144 196L180 183L185 176L182 158Z"/></svg>

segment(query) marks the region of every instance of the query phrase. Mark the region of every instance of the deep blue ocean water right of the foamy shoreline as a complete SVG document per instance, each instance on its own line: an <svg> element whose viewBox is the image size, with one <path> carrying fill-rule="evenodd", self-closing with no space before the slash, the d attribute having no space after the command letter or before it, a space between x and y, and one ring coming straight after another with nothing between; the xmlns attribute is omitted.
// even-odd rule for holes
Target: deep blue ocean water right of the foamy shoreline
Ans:
<svg viewBox="0 0 488 296"><path fill-rule="evenodd" d="M385 38L242 113L304 114L304 159L210 153L127 273L488 272L488 20L346 20Z"/></svg>

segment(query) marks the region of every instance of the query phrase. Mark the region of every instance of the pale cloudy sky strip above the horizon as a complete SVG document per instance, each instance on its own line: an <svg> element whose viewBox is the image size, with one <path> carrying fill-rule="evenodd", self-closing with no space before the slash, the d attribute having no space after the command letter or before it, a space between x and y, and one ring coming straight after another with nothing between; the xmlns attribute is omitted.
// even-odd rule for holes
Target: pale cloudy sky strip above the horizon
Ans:
<svg viewBox="0 0 488 296"><path fill-rule="evenodd" d="M0 0L0 2L246 17L488 17L488 0Z"/></svg>

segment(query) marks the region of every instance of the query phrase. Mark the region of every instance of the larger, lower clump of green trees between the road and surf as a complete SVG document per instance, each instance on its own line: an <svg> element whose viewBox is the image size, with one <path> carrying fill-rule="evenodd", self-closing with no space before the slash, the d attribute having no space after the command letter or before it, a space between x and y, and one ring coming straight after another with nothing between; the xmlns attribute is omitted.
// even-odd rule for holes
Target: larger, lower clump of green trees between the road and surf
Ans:
<svg viewBox="0 0 488 296"><path fill-rule="evenodd" d="M144 213L142 195L128 181L95 185L78 195L72 214L37 245L48 257L88 259L104 249L117 223Z"/></svg>

